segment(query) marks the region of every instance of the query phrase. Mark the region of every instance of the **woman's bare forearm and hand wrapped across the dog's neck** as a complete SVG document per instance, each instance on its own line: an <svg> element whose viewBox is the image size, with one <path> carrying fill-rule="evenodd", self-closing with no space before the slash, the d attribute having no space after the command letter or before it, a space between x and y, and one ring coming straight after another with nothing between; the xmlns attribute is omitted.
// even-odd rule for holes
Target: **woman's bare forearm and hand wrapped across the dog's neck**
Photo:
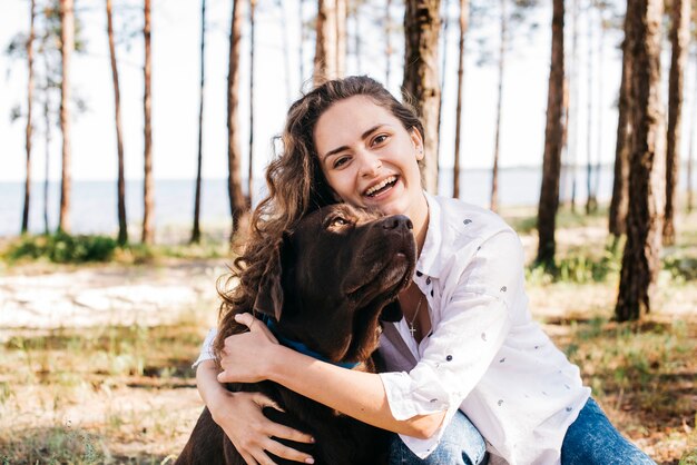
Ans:
<svg viewBox="0 0 697 465"><path fill-rule="evenodd" d="M254 324L258 321L251 314L235 318L249 333L225 340L222 383L271 379L361 422L420 438L430 437L443 422L445 412L397 421L379 375L341 368L274 344L266 326Z"/></svg>

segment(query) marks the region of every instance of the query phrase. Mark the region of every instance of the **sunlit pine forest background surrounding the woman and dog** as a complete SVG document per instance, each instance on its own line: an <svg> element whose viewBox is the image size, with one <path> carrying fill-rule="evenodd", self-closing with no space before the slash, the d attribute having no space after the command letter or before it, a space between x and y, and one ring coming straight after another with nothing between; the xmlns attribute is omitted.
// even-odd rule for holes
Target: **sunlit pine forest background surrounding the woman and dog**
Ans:
<svg viewBox="0 0 697 465"><path fill-rule="evenodd" d="M534 317L612 421L657 462L695 463L694 11L6 0L0 458L176 455L228 239L288 102L313 73L367 73L438 135L429 190L519 231Z"/></svg>

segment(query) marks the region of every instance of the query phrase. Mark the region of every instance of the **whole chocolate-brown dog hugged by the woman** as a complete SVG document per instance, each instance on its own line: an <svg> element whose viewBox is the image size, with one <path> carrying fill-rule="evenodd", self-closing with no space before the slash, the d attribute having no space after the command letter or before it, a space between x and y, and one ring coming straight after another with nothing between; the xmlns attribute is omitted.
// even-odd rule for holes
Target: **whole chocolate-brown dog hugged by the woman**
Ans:
<svg viewBox="0 0 697 465"><path fill-rule="evenodd" d="M412 224L405 216L377 217L348 205L307 215L281 247L278 264L263 277L255 310L278 340L316 358L375 372L372 358L380 319L402 317L396 296L415 266ZM220 328L223 335L233 334ZM347 365L345 365L348 367ZM261 392L285 413L264 414L311 433L313 445L284 442L313 455L321 465L386 462L386 432L342 415L271 382L228 385ZM292 464L269 454L277 464ZM235 451L207 409L177 459L178 464L239 464Z"/></svg>

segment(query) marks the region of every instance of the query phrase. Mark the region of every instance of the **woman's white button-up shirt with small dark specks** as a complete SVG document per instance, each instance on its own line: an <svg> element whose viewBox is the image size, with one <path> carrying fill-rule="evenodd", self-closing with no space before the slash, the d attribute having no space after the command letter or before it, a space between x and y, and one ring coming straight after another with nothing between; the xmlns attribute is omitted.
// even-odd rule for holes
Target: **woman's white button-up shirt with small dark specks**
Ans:
<svg viewBox="0 0 697 465"><path fill-rule="evenodd" d="M531 319L523 250L495 214L433 197L414 283L429 303L420 344L404 319L387 323L381 374L396 419L446 410L429 439L401 436L420 457L461 409L487 439L493 463L558 464L561 443L590 395L576 365ZM390 327L390 325L393 325Z"/></svg>

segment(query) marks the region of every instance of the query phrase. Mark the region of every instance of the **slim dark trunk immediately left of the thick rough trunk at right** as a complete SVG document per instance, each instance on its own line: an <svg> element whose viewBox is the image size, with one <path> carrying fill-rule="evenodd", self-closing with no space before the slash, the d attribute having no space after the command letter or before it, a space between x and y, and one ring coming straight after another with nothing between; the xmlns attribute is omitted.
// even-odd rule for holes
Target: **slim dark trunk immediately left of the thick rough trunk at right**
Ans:
<svg viewBox="0 0 697 465"><path fill-rule="evenodd" d="M631 82L634 32L631 16L625 17L625 40L622 41L622 77L619 87L617 141L615 146L615 176L612 199L610 200L609 230L616 238L627 231L627 208L629 197L629 151L631 149L632 121Z"/></svg>

